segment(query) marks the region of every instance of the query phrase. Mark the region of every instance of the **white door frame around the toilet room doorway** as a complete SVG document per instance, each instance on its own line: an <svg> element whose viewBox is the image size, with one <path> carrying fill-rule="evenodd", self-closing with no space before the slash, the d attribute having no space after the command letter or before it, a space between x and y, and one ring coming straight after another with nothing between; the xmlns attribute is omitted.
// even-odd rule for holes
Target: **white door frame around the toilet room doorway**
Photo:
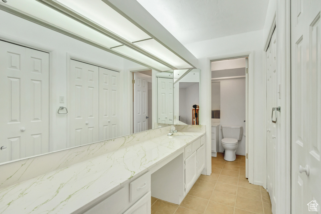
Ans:
<svg viewBox="0 0 321 214"><path fill-rule="evenodd" d="M241 52L241 53L236 53L236 54L228 54L224 56L220 56L217 58L211 58L210 59L210 73L211 73L211 78L210 82L212 83L212 69L211 69L211 63L213 61L221 61L221 60L226 60L226 59L236 59L236 58L248 58L248 75L246 75L247 79L247 89L248 89L248 94L247 94L247 100L245 101L245 105L247 106L246 109L246 130L245 130L245 136L247 140L247 148L245 149L246 153L248 154L247 158L247 166L246 170L248 171L248 181L249 183L253 184L254 182L254 51L247 51L247 52ZM251 75L250 75L251 74ZM210 83L210 85L211 85ZM210 97L212 98L212 91L210 90ZM211 144L210 144L210 158L212 157L211 155ZM209 155L209 152L207 152L206 155ZM212 164L208 164L208 159L206 160L206 166L211 166ZM209 170L207 168L207 170ZM266 171L266 170L265 170Z"/></svg>

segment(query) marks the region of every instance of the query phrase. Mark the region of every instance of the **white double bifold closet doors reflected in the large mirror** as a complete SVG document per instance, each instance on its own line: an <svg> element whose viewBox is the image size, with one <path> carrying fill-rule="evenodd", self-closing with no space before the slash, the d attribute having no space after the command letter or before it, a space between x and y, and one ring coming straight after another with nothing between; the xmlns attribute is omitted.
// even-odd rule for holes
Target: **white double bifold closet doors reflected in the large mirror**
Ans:
<svg viewBox="0 0 321 214"><path fill-rule="evenodd" d="M70 61L68 147L119 136L119 72Z"/></svg>

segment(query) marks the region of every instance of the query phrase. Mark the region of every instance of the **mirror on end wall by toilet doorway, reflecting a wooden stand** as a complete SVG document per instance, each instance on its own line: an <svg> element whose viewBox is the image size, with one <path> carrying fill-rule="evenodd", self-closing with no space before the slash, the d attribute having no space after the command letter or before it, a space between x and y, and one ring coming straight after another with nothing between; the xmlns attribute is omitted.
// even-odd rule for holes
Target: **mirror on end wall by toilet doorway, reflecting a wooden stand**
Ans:
<svg viewBox="0 0 321 214"><path fill-rule="evenodd" d="M199 125L200 69L174 70L174 124Z"/></svg>

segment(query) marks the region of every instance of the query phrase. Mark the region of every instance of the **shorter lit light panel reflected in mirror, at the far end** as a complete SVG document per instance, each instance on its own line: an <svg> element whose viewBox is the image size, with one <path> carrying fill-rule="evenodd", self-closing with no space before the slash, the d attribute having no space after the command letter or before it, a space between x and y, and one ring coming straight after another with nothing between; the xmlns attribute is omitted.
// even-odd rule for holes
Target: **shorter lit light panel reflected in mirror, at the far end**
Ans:
<svg viewBox="0 0 321 214"><path fill-rule="evenodd" d="M132 57L132 58L134 58L134 59L136 59L136 60L138 60L140 62L148 64L148 65L150 65L150 66L152 66L152 67L154 67L154 68L156 68L156 69L158 69L160 71L169 71L169 70L171 70L169 67L167 67L167 66L165 66L165 65L163 65L163 64L161 64L161 63L159 63L159 62L157 62L157 61L155 61L155 60L153 60L151 58L149 58L148 56L145 56L145 55L133 50L130 47L127 47L127 46L123 45L123 46L120 46L120 47L115 47L115 48L113 48L113 50L116 50L119 53L124 54L126 56L130 56L130 57Z"/></svg>

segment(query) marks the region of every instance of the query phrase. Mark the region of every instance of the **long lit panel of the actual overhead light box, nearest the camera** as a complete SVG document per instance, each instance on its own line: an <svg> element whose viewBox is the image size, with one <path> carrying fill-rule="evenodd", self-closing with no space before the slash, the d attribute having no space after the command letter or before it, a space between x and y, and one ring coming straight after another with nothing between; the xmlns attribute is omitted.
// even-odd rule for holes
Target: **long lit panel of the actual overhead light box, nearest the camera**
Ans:
<svg viewBox="0 0 321 214"><path fill-rule="evenodd" d="M130 42L151 38L101 0L56 0Z"/></svg>

